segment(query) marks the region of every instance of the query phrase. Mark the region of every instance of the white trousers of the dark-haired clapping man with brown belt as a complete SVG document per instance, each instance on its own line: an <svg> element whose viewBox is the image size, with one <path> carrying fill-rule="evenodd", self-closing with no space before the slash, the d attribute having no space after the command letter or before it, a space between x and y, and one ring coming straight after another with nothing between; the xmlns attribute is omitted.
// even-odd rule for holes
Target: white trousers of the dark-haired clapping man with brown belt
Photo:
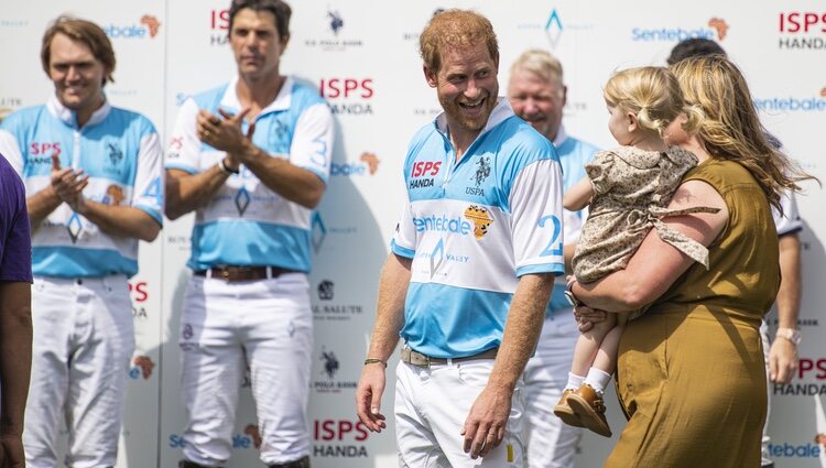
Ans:
<svg viewBox="0 0 826 468"><path fill-rule="evenodd" d="M282 464L309 454L313 314L305 274L239 283L193 276L180 345L188 417L184 457L206 466L229 460L246 366L252 378L261 460Z"/></svg>

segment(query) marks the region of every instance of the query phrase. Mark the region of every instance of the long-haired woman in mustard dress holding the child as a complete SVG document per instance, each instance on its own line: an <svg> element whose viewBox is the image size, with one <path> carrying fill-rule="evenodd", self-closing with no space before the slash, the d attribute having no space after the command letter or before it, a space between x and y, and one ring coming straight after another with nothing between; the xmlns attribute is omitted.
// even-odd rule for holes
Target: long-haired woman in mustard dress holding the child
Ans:
<svg viewBox="0 0 826 468"><path fill-rule="evenodd" d="M733 64L691 58L673 72L706 118L694 135L678 120L666 131L699 160L670 208L720 210L663 220L708 247L708 270L650 232L624 270L570 285L586 319L650 305L620 341L629 422L605 466L758 468L767 406L758 328L780 285L770 205L780 208L779 193L808 176L765 140Z"/></svg>

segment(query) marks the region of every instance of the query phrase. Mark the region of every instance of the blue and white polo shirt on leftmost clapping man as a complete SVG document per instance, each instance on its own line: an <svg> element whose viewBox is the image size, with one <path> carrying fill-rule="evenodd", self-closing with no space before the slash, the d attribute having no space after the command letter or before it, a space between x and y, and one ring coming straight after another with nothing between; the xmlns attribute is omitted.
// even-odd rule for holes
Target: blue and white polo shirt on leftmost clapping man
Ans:
<svg viewBox="0 0 826 468"><path fill-rule="evenodd" d="M3 120L0 152L25 182L29 196L51 184L52 155L57 155L61 167L89 176L87 199L132 206L163 224L161 143L152 122L140 113L107 101L78 128L76 113L53 96ZM32 271L35 276L132 276L138 272L138 239L110 236L62 204L33 230Z"/></svg>

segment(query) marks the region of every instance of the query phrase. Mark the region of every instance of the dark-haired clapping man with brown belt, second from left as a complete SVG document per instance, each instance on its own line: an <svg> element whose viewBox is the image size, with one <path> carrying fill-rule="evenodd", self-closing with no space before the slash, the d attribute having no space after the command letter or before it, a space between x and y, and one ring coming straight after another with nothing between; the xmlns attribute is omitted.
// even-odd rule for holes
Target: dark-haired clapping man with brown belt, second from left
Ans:
<svg viewBox="0 0 826 468"><path fill-rule="evenodd" d="M183 104L167 153L166 215L196 211L180 338L182 467L229 459L246 363L261 460L309 466L309 228L334 123L317 90L280 73L290 14L281 0L232 2L238 75Z"/></svg>

